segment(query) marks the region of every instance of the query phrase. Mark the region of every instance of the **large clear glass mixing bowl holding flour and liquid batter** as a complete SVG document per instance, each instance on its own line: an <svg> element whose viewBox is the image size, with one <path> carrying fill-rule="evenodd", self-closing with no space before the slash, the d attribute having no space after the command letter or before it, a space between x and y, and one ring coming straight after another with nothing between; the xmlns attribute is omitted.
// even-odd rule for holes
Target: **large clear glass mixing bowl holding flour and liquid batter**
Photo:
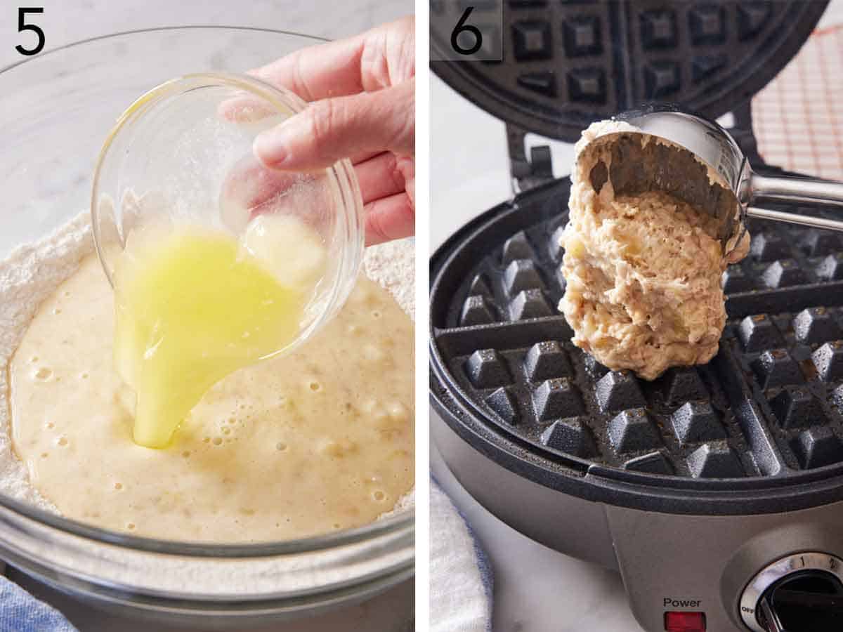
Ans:
<svg viewBox="0 0 843 632"><path fill-rule="evenodd" d="M0 259L89 207L99 148L139 94L191 72L243 72L313 43L266 29L153 29L79 42L0 72ZM362 601L412 576L414 537L409 510L302 540L191 544L94 528L0 495L4 560L91 603L204 627Z"/></svg>

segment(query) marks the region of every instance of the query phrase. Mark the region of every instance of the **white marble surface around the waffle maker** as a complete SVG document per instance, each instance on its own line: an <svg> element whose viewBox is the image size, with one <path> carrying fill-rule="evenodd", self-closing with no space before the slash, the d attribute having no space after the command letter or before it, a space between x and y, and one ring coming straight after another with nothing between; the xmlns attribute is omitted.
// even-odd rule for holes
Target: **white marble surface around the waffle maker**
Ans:
<svg viewBox="0 0 843 632"><path fill-rule="evenodd" d="M832 0L819 27L843 23ZM431 78L431 244L512 195L504 125ZM546 142L546 141L544 141ZM550 143L554 174L569 173L572 145ZM620 576L547 549L501 522L459 485L431 446L431 470L470 522L495 573L495 632L642 632Z"/></svg>

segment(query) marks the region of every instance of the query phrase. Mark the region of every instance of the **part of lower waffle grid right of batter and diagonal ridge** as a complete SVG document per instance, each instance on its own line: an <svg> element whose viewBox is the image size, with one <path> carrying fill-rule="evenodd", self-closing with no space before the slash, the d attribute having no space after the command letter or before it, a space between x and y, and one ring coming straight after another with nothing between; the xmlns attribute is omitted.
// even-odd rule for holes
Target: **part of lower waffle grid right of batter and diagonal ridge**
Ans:
<svg viewBox="0 0 843 632"><path fill-rule="evenodd" d="M727 303L730 315L752 313L730 319L722 345L738 362L749 393L771 420L771 434L787 467L813 469L839 463L843 461L843 238L839 233L775 222L754 222L749 229L750 254L724 273L724 287L739 287ZM765 291L781 292L781 298L773 293L757 302Z"/></svg>

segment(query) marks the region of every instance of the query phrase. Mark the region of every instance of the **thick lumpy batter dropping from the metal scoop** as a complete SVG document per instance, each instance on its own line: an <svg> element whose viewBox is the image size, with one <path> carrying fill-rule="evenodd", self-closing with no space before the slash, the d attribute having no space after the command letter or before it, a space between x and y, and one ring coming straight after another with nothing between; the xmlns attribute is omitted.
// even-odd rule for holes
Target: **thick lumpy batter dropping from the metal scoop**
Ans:
<svg viewBox="0 0 843 632"><path fill-rule="evenodd" d="M716 227L685 201L661 191L615 196L611 180L595 191L588 176L610 155L588 144L606 125L623 124L595 123L577 143L559 308L575 345L612 370L652 380L717 352L726 323L722 272L744 258L749 238L727 258L712 237Z"/></svg>

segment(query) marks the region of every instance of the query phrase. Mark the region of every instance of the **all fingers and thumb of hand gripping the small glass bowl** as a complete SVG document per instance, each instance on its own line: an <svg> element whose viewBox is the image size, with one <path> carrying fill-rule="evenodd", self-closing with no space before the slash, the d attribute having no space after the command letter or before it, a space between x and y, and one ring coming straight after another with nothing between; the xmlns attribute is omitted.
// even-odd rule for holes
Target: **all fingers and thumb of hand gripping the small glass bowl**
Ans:
<svg viewBox="0 0 843 632"><path fill-rule="evenodd" d="M415 25L412 18L363 35L314 46L254 72L287 88L309 107L254 144L260 163L279 173L325 169L351 158L366 212L367 244L413 234L415 155ZM233 102L229 120L249 122L264 112L249 101ZM395 155L397 154L397 156ZM232 197L254 212L271 200L273 185L252 171ZM252 213L250 213L252 214Z"/></svg>

